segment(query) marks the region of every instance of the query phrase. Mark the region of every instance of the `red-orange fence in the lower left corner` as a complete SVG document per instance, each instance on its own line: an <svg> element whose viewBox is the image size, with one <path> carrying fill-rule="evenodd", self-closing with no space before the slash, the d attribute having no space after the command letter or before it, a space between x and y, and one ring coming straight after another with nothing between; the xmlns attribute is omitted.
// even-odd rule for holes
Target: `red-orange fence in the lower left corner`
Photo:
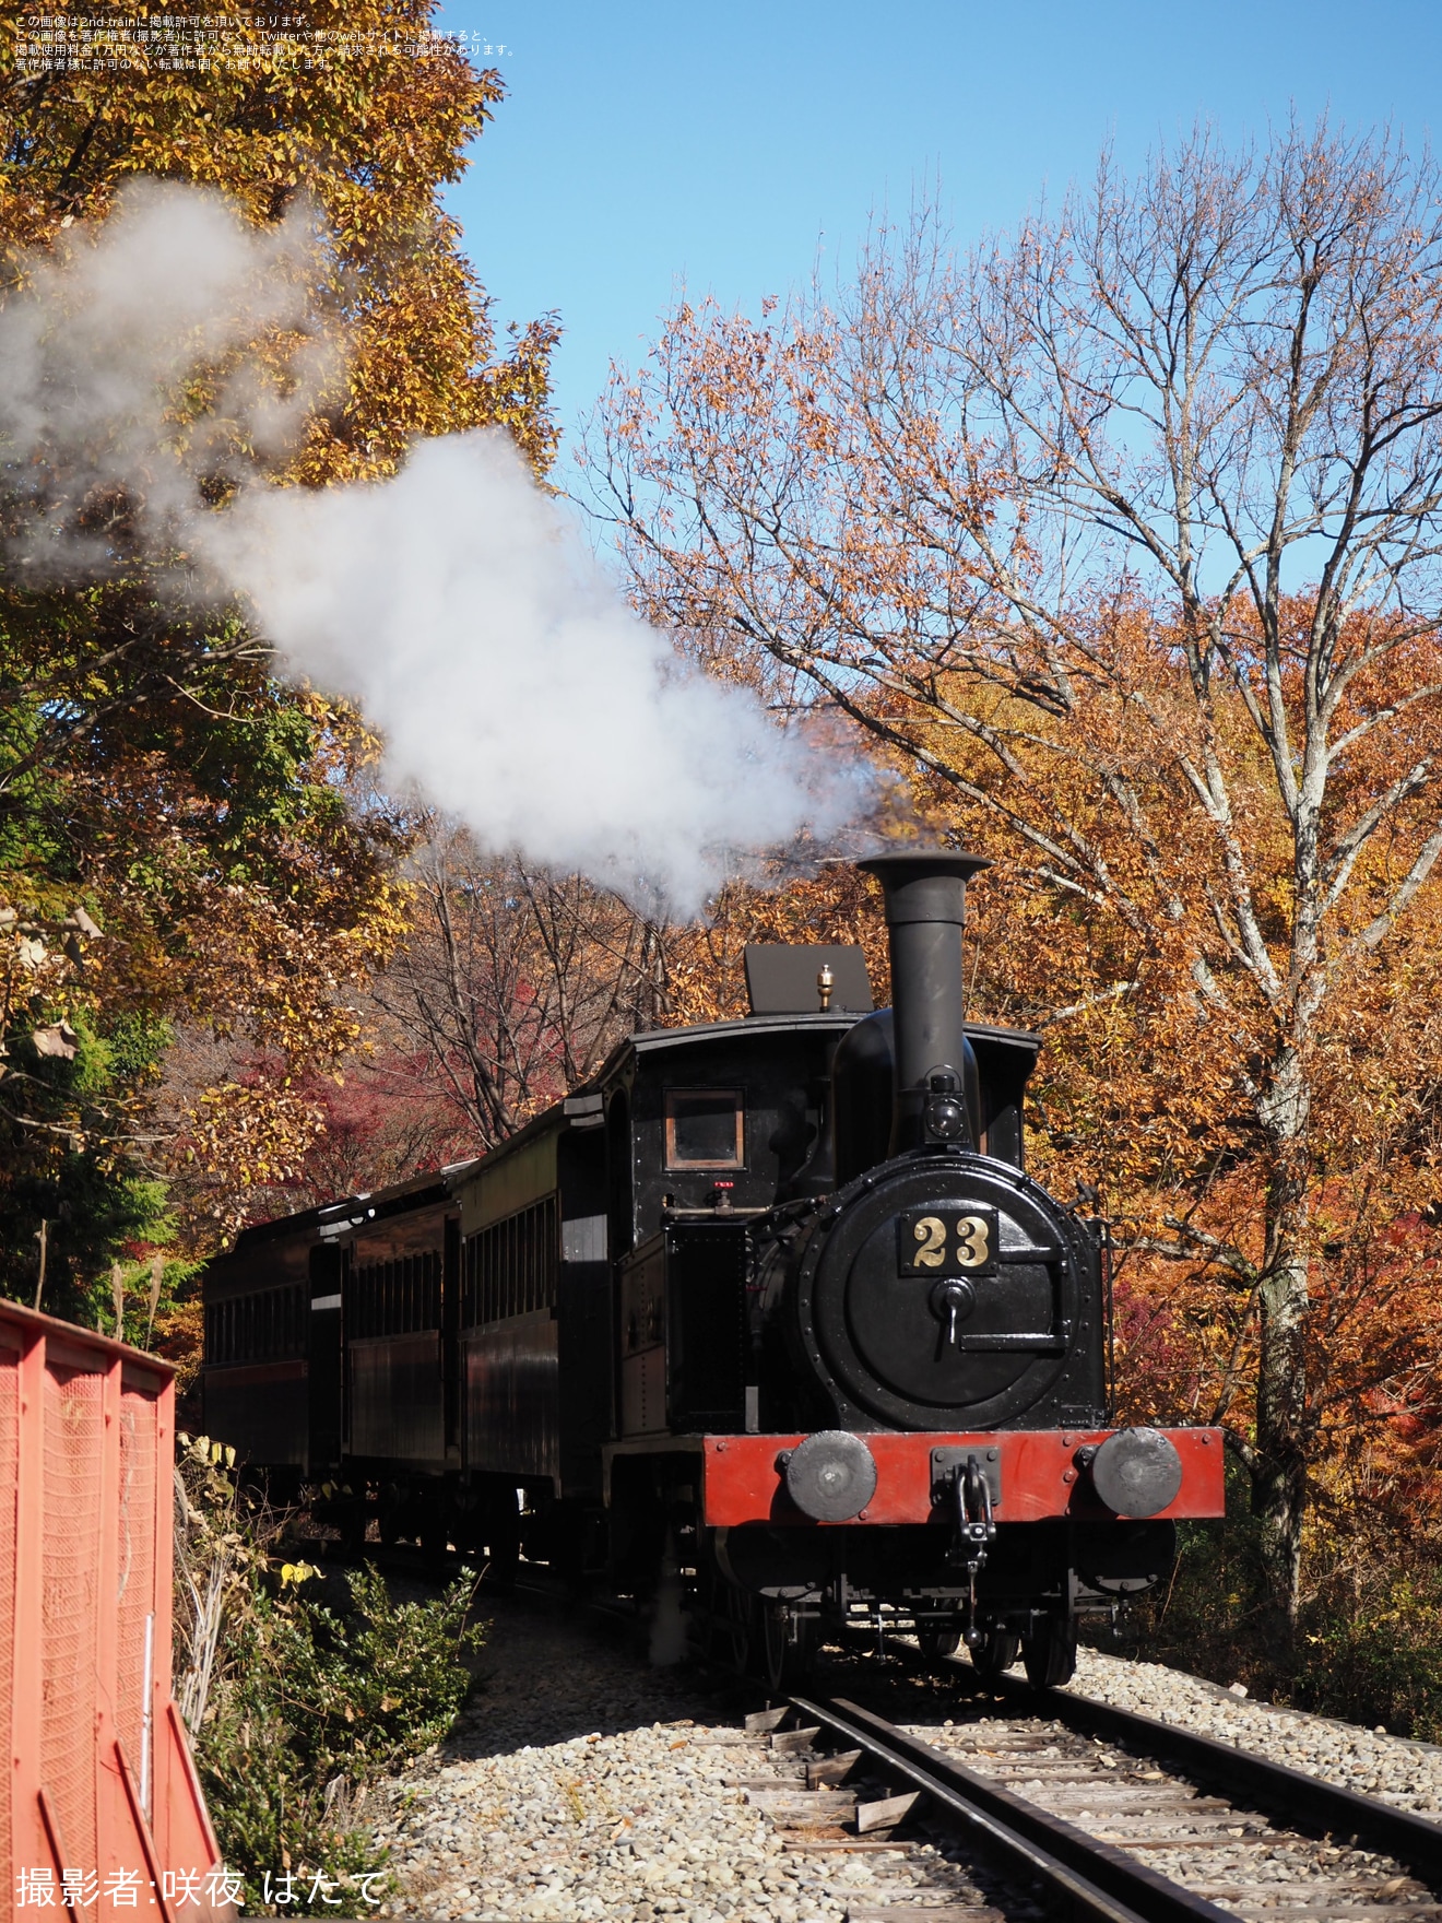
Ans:
<svg viewBox="0 0 1442 1923"><path fill-rule="evenodd" d="M173 1460L167 1363L0 1302L8 1915L235 1915L171 1700Z"/></svg>

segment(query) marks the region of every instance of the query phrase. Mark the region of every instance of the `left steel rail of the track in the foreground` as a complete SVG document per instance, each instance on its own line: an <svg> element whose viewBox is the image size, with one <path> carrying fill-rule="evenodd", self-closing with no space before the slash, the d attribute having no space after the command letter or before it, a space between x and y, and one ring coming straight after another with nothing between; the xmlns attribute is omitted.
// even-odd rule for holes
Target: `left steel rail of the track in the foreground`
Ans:
<svg viewBox="0 0 1442 1923"><path fill-rule="evenodd" d="M1073 1829L854 1702L792 1696L790 1706L808 1723L825 1725L923 1790L1009 1871L1044 1883L1067 1923L1236 1923L1232 1911L1169 1883L1115 1844Z"/></svg>

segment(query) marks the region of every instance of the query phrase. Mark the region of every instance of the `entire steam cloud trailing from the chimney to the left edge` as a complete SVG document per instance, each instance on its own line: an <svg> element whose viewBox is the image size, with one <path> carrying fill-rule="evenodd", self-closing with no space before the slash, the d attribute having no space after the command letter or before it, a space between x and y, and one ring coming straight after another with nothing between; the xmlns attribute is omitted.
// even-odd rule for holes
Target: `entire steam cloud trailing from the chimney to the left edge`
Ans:
<svg viewBox="0 0 1442 1923"><path fill-rule="evenodd" d="M0 310L27 563L104 571L83 504L138 498L156 554L202 558L286 675L360 706L392 787L646 906L696 912L758 850L852 819L858 767L688 669L502 431L419 442L385 483L265 483L335 365L321 250L304 213L258 233L215 194L140 183L31 263Z"/></svg>

